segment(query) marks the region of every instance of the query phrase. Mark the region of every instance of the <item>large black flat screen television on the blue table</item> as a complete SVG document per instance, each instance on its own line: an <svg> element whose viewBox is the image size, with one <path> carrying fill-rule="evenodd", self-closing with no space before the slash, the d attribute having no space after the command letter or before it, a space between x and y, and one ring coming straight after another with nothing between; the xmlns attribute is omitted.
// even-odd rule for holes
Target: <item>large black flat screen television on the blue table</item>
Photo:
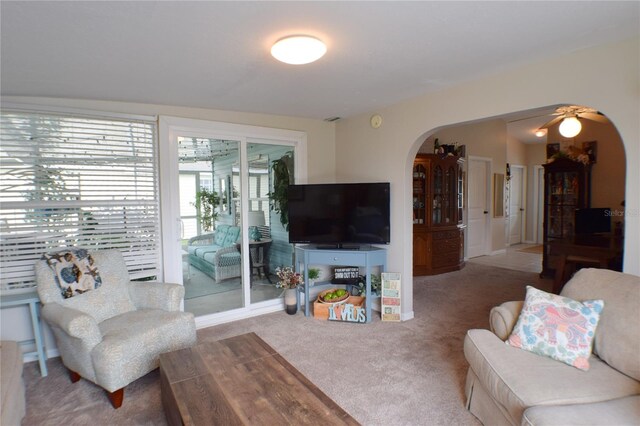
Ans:
<svg viewBox="0 0 640 426"><path fill-rule="evenodd" d="M289 242L357 248L390 242L386 183L289 185Z"/></svg>

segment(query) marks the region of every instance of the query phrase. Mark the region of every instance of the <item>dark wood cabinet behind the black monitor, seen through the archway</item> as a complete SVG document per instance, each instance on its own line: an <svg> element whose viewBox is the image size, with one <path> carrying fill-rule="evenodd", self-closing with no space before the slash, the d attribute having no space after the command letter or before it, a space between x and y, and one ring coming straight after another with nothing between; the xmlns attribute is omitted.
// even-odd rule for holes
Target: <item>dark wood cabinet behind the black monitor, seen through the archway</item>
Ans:
<svg viewBox="0 0 640 426"><path fill-rule="evenodd" d="M543 277L555 274L557 255L551 250L554 241L570 240L575 235L575 211L591 204L591 167L559 158L544 165L544 250Z"/></svg>

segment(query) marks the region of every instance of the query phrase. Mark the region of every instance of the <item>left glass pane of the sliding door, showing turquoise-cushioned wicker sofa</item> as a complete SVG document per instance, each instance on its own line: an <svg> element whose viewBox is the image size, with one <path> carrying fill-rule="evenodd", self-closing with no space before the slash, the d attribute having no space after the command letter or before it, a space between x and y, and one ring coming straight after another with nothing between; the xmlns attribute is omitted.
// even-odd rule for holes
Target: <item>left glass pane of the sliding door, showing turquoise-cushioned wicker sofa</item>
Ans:
<svg viewBox="0 0 640 426"><path fill-rule="evenodd" d="M240 141L178 136L180 257L185 311L208 315L243 306L237 206ZM231 204L231 205L230 205Z"/></svg>

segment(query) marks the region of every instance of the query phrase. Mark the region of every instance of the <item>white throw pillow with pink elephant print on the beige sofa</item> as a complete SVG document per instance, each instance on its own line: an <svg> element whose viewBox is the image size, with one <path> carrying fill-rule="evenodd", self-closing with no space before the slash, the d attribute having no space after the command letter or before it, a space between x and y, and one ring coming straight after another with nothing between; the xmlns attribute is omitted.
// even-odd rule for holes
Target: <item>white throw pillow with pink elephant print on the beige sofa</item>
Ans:
<svg viewBox="0 0 640 426"><path fill-rule="evenodd" d="M527 286L527 296L507 344L589 369L602 300L577 302Z"/></svg>

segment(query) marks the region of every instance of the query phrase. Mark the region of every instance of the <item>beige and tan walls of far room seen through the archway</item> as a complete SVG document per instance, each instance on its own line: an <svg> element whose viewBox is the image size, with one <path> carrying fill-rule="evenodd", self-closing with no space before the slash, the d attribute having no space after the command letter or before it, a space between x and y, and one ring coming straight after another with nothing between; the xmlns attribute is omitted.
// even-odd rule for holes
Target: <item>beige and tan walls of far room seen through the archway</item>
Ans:
<svg viewBox="0 0 640 426"><path fill-rule="evenodd" d="M434 142L439 144L464 145L465 153L465 197L464 217L465 225L465 257L469 254L469 236L473 235L473 223L469 223L470 203L469 190L477 187L478 182L470 185L469 166L474 158L490 160L489 173L485 189L488 197L490 218L489 238L484 255L503 254L509 246L509 169L518 168L522 173L522 209L519 216L522 221L521 243L540 244L543 218L541 213L544 206L540 187L539 173L543 164L552 161L552 156L568 156L578 160L584 155L590 155L590 201L588 207L608 208L611 211L612 232L623 234L624 228L624 194L626 158L622 139L611 122L602 123L587 119L580 119L581 132L566 138L559 132L560 122L550 126L541 137L535 136L535 131L553 118L557 106L532 109L498 117L491 117L471 123L460 123L438 128L423 136L423 142L418 149L420 152L433 152ZM507 167L509 165L509 167ZM495 187L496 177L505 178L505 186ZM491 182L489 184L488 182ZM504 211L497 211L494 201L503 191ZM511 207L513 208L513 207Z"/></svg>

